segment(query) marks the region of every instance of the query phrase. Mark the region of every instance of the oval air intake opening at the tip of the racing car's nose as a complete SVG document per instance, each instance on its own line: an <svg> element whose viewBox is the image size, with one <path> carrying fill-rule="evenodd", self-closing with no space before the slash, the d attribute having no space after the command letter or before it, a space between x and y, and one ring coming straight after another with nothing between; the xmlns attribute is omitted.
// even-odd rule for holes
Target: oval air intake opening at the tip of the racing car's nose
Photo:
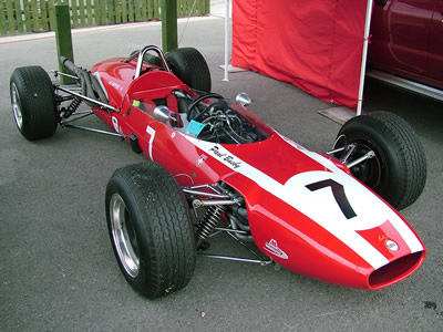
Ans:
<svg viewBox="0 0 443 332"><path fill-rule="evenodd" d="M423 256L423 251L414 252L381 267L369 277L369 284L378 289L406 278L421 266Z"/></svg>

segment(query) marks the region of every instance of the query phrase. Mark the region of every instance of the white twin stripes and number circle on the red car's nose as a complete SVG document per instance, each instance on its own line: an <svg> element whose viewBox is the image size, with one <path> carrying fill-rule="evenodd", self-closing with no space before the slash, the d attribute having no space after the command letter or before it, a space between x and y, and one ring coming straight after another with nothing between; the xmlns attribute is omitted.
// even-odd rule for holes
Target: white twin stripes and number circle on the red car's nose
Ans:
<svg viewBox="0 0 443 332"><path fill-rule="evenodd" d="M189 136L185 137L225 166L246 176L264 190L278 197L312 219L351 248L374 269L387 264L389 260L370 242L362 238L357 230L371 229L389 220L403 237L411 252L423 249L420 241L408 226L404 225L401 218L370 190L333 165L332 162L295 143L291 144L287 138L285 138L285 141L291 146L331 172L313 170L297 174L282 185L267 174L238 158L219 144L199 141ZM306 187L309 184L324 179L333 179L344 187L347 198L357 214L356 217L351 219L344 217L330 189L324 188L322 190L311 191ZM321 205L319 203L321 203Z"/></svg>

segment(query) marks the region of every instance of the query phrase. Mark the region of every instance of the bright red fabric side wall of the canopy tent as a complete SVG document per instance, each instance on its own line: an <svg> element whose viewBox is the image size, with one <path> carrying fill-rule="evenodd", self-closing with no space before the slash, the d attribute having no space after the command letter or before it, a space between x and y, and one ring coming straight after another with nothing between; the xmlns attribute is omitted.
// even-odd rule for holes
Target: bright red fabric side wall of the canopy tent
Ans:
<svg viewBox="0 0 443 332"><path fill-rule="evenodd" d="M234 0L231 64L357 108L367 0Z"/></svg>

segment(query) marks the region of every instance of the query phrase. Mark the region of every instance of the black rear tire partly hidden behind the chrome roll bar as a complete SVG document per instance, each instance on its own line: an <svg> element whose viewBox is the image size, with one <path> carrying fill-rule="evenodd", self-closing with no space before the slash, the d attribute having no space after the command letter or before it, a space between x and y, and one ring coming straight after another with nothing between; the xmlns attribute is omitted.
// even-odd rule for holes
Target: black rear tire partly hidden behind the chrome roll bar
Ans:
<svg viewBox="0 0 443 332"><path fill-rule="evenodd" d="M183 48L166 54L173 73L192 89L210 92L210 72L202 53L194 48Z"/></svg>

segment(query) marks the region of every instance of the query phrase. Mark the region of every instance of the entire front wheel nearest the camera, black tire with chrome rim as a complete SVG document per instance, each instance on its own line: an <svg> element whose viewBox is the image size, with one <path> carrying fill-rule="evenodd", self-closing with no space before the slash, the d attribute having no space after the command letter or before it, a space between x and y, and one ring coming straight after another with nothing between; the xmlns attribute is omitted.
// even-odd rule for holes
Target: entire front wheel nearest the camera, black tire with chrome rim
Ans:
<svg viewBox="0 0 443 332"><path fill-rule="evenodd" d="M148 299L186 287L196 262L194 226L167 170L155 163L116 169L105 203L112 247L131 287Z"/></svg>

